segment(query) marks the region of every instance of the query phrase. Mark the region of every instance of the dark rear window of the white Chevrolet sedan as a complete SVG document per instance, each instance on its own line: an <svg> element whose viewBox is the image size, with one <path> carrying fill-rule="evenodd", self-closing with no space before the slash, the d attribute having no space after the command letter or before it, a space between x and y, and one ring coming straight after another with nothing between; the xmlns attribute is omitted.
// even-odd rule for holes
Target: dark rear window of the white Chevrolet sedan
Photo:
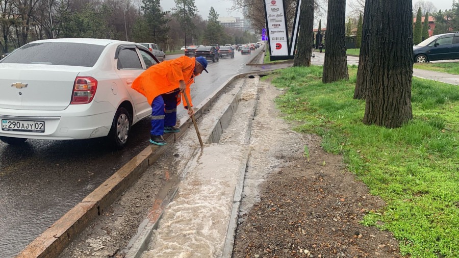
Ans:
<svg viewBox="0 0 459 258"><path fill-rule="evenodd" d="M85 43L29 43L14 50L1 63L92 67L104 48L105 46Z"/></svg>

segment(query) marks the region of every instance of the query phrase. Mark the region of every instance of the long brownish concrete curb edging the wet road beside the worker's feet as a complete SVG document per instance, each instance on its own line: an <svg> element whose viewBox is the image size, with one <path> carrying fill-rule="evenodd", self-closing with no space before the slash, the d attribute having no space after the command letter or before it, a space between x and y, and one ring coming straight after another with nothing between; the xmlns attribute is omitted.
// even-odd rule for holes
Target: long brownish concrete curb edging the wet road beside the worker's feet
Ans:
<svg viewBox="0 0 459 258"><path fill-rule="evenodd" d="M211 94L211 97L203 100L195 107L195 118L200 117L204 111L207 111L212 106L212 103L215 102L226 86L248 74L258 73L261 72L241 73L228 79ZM136 182L137 178L159 159L168 146L173 145L176 139L183 135L184 131L192 124L192 121L188 117L183 117L179 124L180 133L164 135L168 145L149 145L146 147L52 226L47 228L16 257L58 256L93 219L102 214L127 188Z"/></svg>

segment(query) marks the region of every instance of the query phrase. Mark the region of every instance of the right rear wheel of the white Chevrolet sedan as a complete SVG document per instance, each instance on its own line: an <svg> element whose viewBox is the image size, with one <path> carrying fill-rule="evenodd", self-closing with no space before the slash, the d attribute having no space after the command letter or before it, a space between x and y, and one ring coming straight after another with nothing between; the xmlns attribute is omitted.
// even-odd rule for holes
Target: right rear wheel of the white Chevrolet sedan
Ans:
<svg viewBox="0 0 459 258"><path fill-rule="evenodd" d="M112 127L108 135L109 142L117 149L126 146L131 129L131 116L123 107L119 107L113 118Z"/></svg>

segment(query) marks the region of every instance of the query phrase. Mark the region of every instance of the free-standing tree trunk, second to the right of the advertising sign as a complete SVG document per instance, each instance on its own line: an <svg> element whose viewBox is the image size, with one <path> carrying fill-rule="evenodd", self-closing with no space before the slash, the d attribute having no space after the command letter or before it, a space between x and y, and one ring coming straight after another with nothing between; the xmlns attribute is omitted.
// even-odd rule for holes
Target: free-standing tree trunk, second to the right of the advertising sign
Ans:
<svg viewBox="0 0 459 258"><path fill-rule="evenodd" d="M346 56L346 0L328 0L323 83L349 80Z"/></svg>

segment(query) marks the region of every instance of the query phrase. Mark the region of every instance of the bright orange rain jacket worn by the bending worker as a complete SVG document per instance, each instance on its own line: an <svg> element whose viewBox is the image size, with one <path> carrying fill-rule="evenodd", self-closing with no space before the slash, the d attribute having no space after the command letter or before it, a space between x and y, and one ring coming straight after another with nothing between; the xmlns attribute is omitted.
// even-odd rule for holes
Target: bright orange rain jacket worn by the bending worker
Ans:
<svg viewBox="0 0 459 258"><path fill-rule="evenodd" d="M186 56L152 65L134 80L131 88L144 95L151 106L155 97L179 89L179 81L184 81L186 84L185 94L188 96L190 106L193 107L190 85L194 82L194 78L192 78L194 65L195 58ZM180 98L177 99L177 106L179 104ZM187 106L185 100L183 106Z"/></svg>

